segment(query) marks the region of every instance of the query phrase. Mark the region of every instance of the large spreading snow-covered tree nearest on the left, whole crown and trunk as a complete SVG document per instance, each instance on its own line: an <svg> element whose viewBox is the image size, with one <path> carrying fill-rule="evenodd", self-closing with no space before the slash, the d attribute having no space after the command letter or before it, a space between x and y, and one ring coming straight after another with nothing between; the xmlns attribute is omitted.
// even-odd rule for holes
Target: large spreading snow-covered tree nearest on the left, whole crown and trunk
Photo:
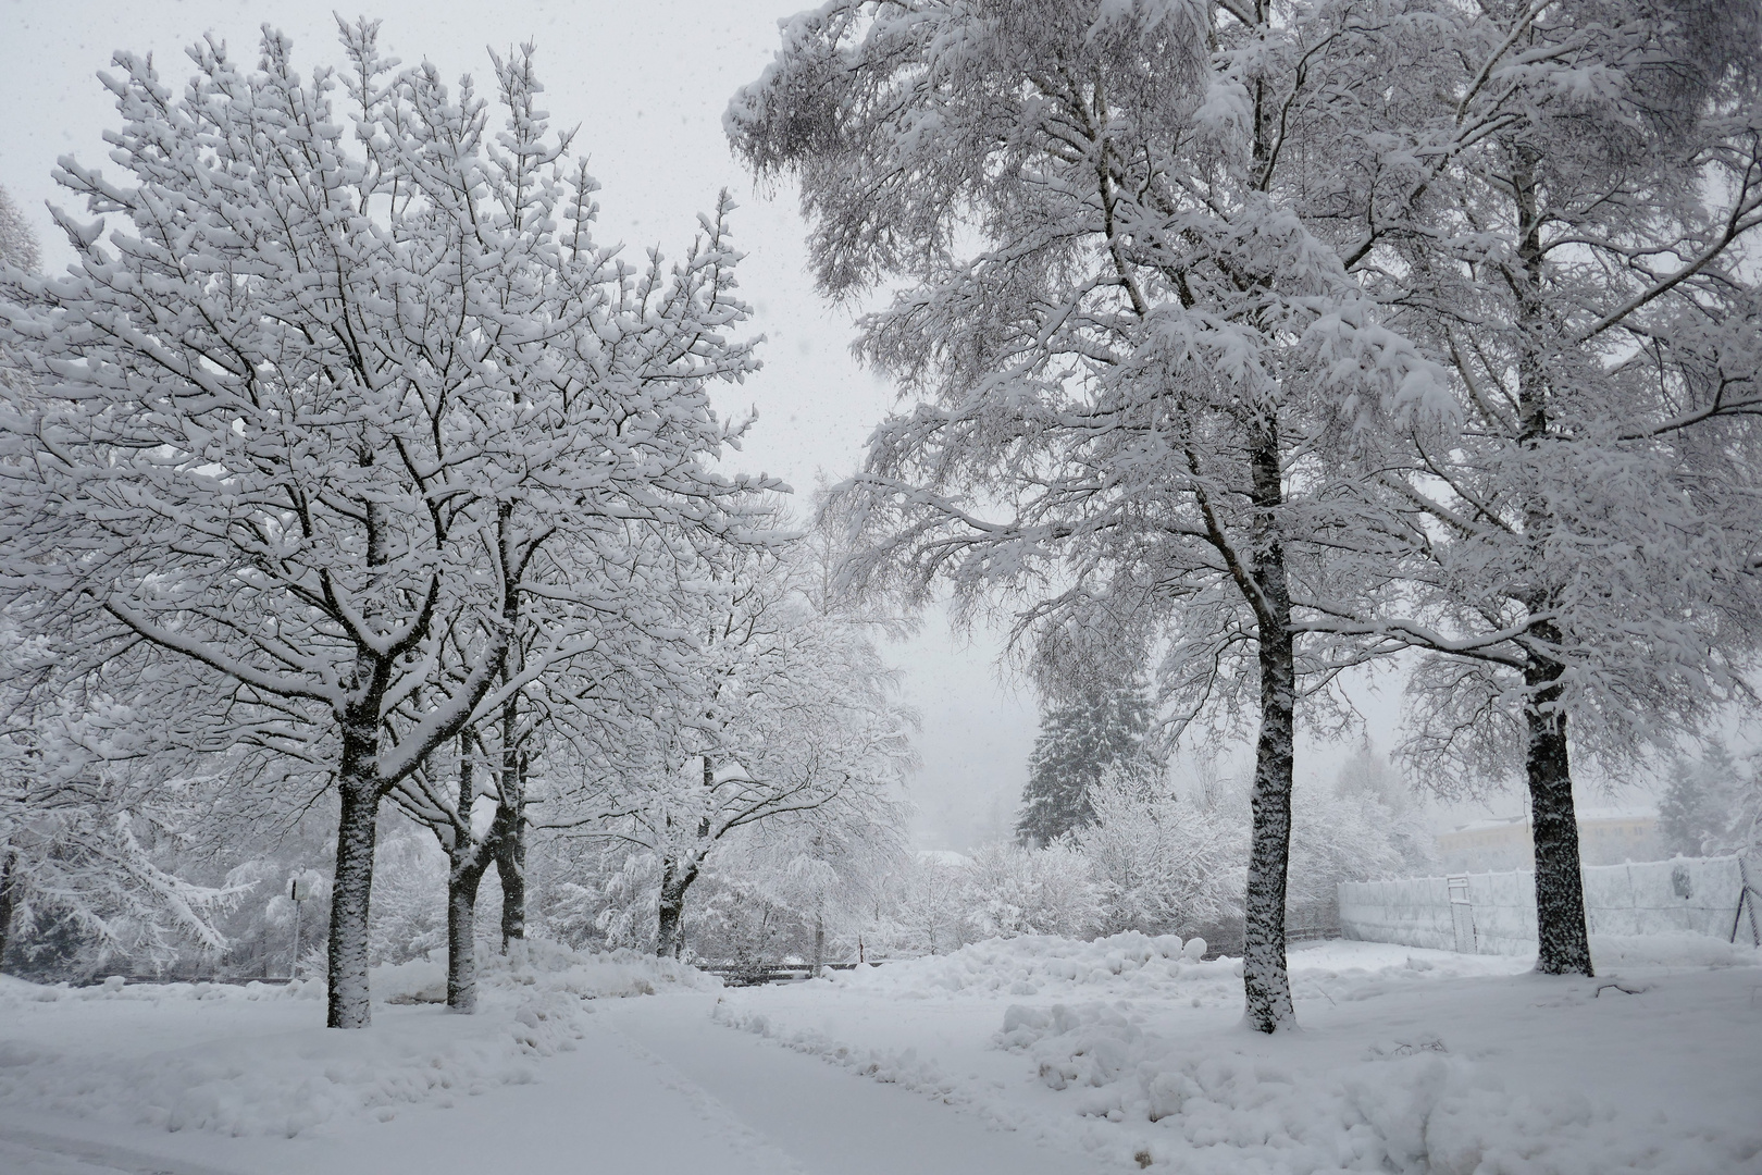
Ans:
<svg viewBox="0 0 1762 1175"><path fill-rule="evenodd" d="M381 800L580 650L589 553L729 532L745 488L707 469L731 430L705 384L752 358L726 197L671 270L633 270L592 240L530 48L495 62L492 127L375 25L342 42L310 81L278 33L254 70L203 42L181 93L115 58L125 178L63 159L97 218L58 211L72 268L0 289L30 377L0 550L19 624L152 647L241 738L329 761L328 1020L359 1027Z"/></svg>

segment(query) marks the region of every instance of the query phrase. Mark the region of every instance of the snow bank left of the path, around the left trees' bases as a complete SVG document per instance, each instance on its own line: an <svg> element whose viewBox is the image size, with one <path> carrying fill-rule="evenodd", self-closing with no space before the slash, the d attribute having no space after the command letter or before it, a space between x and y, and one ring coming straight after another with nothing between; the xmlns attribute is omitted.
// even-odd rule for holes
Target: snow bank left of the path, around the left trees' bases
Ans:
<svg viewBox="0 0 1762 1175"><path fill-rule="evenodd" d="M386 1001L363 1031L322 1022L322 983L37 987L0 979L0 1106L144 1124L169 1131L294 1136L326 1122L395 1117L418 1103L536 1080L534 1060L574 1048L583 1002L714 988L671 960L578 955L530 944L485 960L479 1011L446 997L444 967L379 967Z"/></svg>

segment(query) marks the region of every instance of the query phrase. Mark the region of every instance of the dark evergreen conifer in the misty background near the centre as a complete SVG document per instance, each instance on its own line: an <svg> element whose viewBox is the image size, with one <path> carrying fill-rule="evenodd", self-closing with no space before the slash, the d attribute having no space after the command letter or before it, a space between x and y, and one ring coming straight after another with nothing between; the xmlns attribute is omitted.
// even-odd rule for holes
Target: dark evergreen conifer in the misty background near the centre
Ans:
<svg viewBox="0 0 1762 1175"><path fill-rule="evenodd" d="M1144 745L1149 728L1151 706L1136 684L1078 687L1047 706L1027 759L1017 837L1050 844L1094 821L1091 793L1110 773L1154 780L1158 763Z"/></svg>

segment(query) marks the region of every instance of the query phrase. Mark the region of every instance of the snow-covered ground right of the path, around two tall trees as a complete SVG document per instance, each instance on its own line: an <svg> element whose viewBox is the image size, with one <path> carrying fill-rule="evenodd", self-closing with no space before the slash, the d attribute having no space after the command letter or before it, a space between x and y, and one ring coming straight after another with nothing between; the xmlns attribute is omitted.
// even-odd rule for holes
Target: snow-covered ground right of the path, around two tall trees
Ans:
<svg viewBox="0 0 1762 1175"><path fill-rule="evenodd" d="M1302 1031L1239 1024L1233 960L1015 939L717 1018L1112 1170L1762 1171L1762 971L1709 939L1603 939L1596 979L1373 942L1292 953ZM1713 965L1709 965L1713 964Z"/></svg>

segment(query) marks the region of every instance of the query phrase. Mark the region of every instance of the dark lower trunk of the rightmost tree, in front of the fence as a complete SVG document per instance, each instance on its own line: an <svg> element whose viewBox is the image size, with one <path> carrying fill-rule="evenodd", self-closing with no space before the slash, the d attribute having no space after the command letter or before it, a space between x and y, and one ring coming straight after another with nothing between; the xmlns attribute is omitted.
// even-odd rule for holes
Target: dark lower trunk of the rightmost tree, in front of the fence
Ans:
<svg viewBox="0 0 1762 1175"><path fill-rule="evenodd" d="M1529 722L1524 766L1536 851L1536 971L1589 976L1591 939L1584 923L1584 874L1579 868L1579 819L1572 807L1566 715L1552 708L1561 696L1559 685L1552 685L1559 675L1561 666L1545 661L1531 662L1524 673L1524 682L1533 691L1524 712Z"/></svg>

